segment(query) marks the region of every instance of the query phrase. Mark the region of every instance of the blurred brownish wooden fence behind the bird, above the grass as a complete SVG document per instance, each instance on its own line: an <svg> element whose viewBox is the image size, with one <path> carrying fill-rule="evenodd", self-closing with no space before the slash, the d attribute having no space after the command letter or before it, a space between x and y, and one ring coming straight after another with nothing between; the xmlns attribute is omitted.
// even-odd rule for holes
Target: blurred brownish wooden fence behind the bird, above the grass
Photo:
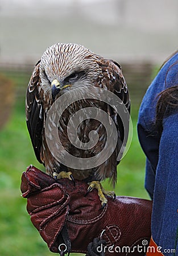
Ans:
<svg viewBox="0 0 178 256"><path fill-rule="evenodd" d="M8 79L13 80L15 84L15 98L24 100L28 81L34 65L12 65L1 64L0 73L3 73ZM125 76L130 91L132 105L139 105L142 101L146 89L153 79L155 64L151 63L123 63L123 75Z"/></svg>

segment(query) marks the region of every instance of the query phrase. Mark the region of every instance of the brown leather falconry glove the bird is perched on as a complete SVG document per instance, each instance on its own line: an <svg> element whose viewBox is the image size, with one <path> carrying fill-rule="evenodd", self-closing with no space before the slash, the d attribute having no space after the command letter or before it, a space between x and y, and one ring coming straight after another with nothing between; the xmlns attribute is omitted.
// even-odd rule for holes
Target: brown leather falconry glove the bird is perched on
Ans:
<svg viewBox="0 0 178 256"><path fill-rule="evenodd" d="M78 180L76 185L68 179L56 182L33 166L23 172L21 191L27 197L27 211L49 250L59 253L60 246L65 253L92 256L145 255L152 202L117 196L114 201L108 198L101 209L97 190L85 196L87 188Z"/></svg>

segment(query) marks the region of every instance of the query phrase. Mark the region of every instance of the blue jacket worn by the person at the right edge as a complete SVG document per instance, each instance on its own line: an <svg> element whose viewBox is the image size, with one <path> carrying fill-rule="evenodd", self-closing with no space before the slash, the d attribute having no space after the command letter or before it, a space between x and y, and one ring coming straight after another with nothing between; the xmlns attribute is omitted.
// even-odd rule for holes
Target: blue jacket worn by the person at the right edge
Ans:
<svg viewBox="0 0 178 256"><path fill-rule="evenodd" d="M152 237L164 255L178 255L178 108L155 129L158 93L178 85L178 53L167 61L148 88L139 110L138 137L146 154L145 187L153 200ZM171 253L176 249L176 253Z"/></svg>

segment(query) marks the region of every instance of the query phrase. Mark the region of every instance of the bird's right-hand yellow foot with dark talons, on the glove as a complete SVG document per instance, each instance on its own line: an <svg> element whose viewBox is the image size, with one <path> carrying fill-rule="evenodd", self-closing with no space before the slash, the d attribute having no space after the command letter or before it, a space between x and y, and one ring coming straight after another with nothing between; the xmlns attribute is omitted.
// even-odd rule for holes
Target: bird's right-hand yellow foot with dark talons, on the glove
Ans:
<svg viewBox="0 0 178 256"><path fill-rule="evenodd" d="M106 191L100 181L92 181L89 183L89 187L88 187L88 192L92 191L94 188L97 189L98 191L98 196L100 197L100 201L101 201L101 207L104 208L105 205L107 204L107 199L105 196L110 196L113 199L115 199L115 193L114 191Z"/></svg>

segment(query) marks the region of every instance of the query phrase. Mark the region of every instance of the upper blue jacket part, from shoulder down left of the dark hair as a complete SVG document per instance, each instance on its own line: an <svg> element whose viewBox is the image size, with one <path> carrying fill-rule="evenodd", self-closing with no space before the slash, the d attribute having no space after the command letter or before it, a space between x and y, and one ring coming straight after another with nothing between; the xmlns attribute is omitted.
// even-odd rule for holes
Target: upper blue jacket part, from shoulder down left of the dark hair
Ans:
<svg viewBox="0 0 178 256"><path fill-rule="evenodd" d="M146 155L145 187L151 197L154 194L155 173L159 160L161 134L156 131L156 104L158 94L164 89L178 84L178 53L167 61L152 81L143 97L138 117L138 138Z"/></svg>

